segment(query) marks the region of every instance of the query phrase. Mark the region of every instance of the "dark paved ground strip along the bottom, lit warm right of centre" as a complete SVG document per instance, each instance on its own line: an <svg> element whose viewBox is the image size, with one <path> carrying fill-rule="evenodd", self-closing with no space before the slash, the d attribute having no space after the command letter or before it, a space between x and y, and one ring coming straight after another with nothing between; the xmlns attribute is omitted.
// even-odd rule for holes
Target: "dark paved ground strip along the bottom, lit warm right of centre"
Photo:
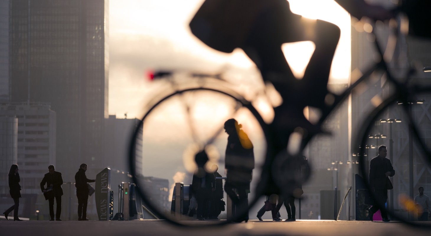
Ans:
<svg viewBox="0 0 431 236"><path fill-rule="evenodd" d="M250 220L247 223L223 226L206 226L210 223L206 221L189 223L192 227L174 226L165 220L20 222L0 220L0 232L1 235L13 236L429 236L431 232L431 221L425 223L428 226L426 229L396 221Z"/></svg>

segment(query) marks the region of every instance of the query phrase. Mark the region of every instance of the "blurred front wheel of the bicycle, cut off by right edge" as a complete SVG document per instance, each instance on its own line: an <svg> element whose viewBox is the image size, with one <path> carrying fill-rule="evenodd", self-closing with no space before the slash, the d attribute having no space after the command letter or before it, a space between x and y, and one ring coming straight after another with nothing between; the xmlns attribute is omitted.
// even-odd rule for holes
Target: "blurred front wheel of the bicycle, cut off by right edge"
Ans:
<svg viewBox="0 0 431 236"><path fill-rule="evenodd" d="M357 216L368 220L369 212L364 210L370 206L385 209L392 220L401 220L407 224L419 227L430 227L418 221L421 207L415 205L414 198L419 195L419 187L428 185L431 176L430 141L428 107L422 101L431 99L431 90L420 90L413 94L421 99L413 101L406 96L394 94L380 104L369 115L362 125L359 136L359 164L362 183L356 183L356 189L366 189L373 201L365 201L365 195L358 199L359 212ZM370 162L379 154L379 146L385 145L387 156L395 170L395 175L389 177L393 189L388 190L387 198L375 192L373 181L369 178ZM384 154L383 154L384 155ZM374 175L373 175L374 176ZM359 185L358 185L359 184ZM386 200L386 201L384 201ZM374 208L376 209L376 207ZM375 214L374 220L381 220L381 214Z"/></svg>

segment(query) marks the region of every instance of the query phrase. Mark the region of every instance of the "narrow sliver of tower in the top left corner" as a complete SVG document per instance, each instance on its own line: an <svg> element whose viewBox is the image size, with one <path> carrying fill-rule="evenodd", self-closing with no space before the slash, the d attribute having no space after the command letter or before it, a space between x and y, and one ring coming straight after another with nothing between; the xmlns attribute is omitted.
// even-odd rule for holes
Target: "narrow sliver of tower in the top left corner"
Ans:
<svg viewBox="0 0 431 236"><path fill-rule="evenodd" d="M0 102L9 101L9 0L0 0Z"/></svg>

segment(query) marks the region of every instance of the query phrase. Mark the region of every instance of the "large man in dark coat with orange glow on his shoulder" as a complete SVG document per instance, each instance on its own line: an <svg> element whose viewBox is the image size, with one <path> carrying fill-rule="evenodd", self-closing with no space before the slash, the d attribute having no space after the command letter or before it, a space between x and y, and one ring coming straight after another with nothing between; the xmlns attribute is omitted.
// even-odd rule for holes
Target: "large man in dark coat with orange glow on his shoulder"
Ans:
<svg viewBox="0 0 431 236"><path fill-rule="evenodd" d="M229 135L225 153L226 183L225 192L233 202L233 220L248 220L248 199L250 182L254 169L253 143L242 126L235 119L225 122L225 130Z"/></svg>

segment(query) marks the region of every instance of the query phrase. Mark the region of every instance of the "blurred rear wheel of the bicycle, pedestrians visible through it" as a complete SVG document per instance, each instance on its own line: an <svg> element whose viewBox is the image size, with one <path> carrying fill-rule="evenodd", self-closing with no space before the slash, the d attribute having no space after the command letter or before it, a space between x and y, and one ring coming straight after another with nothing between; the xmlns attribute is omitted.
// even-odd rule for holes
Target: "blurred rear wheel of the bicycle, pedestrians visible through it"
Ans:
<svg viewBox="0 0 431 236"><path fill-rule="evenodd" d="M203 221L188 217L190 183L197 169L195 155L205 150L206 170L218 165L224 173L227 135L224 122L235 118L254 145L255 169L251 182L250 205L260 196L256 186L266 156L268 131L259 113L241 96L231 91L192 87L161 96L147 106L131 138L129 165L133 181L140 188L146 207L171 223L185 226L225 224L230 220ZM175 216L175 183L182 188L181 217ZM226 201L226 194L225 201ZM171 202L172 201L172 202ZM202 207L202 204L198 207ZM211 206L208 206L211 207ZM225 211L226 212L226 211ZM192 213L194 213L192 211ZM225 218L221 214L219 218Z"/></svg>

